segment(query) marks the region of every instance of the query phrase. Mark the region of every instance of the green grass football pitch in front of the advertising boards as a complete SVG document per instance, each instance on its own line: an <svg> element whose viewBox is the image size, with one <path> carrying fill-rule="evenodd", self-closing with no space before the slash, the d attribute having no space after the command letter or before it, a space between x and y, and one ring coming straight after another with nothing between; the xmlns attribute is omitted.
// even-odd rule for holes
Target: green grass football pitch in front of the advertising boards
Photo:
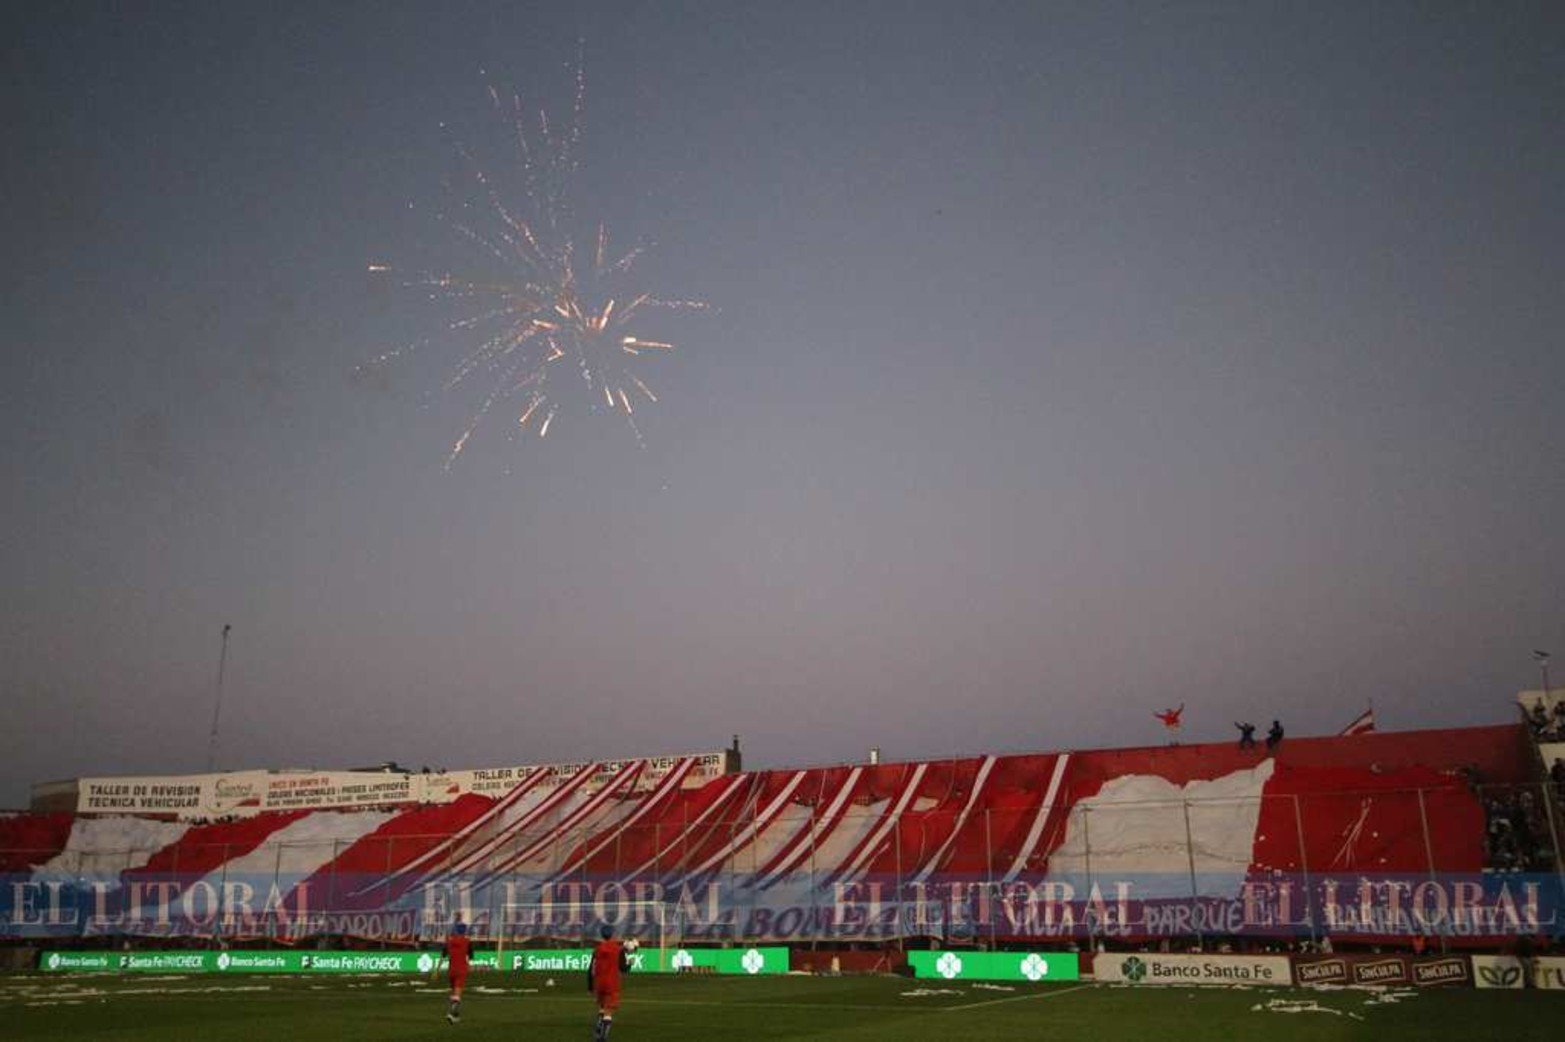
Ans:
<svg viewBox="0 0 1565 1042"><path fill-rule="evenodd" d="M41 975L0 978L0 1037L124 1042L396 1042L592 1037L577 975L482 975L460 1025L429 978ZM1473 989L1185 989L945 984L903 978L646 976L613 1042L703 1039L1557 1039L1565 993Z"/></svg>

